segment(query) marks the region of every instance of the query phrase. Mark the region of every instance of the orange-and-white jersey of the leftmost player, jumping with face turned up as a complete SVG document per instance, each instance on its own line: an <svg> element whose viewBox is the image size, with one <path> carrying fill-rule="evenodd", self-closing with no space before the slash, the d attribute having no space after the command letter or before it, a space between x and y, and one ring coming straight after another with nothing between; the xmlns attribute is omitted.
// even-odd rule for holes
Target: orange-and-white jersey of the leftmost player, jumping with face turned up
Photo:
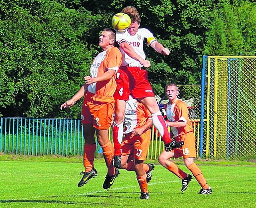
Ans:
<svg viewBox="0 0 256 208"><path fill-rule="evenodd" d="M98 77L109 69L118 71L121 63L122 54L120 50L117 47L110 47L95 57L90 67L90 77ZM115 76L110 78L110 80L89 84L87 90L93 94L111 97L116 90Z"/></svg>

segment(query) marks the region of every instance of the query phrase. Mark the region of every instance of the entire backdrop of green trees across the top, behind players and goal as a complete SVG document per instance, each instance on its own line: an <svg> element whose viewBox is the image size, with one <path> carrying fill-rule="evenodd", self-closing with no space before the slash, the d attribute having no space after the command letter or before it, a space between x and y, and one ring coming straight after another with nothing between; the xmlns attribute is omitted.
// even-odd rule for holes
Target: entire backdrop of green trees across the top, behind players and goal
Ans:
<svg viewBox="0 0 256 208"><path fill-rule="evenodd" d="M146 47L156 94L166 82L200 84L202 55L254 55L256 5L243 0L2 0L0 2L0 114L79 118L82 100L60 105L84 83L98 34L114 14L135 6L141 26L164 47Z"/></svg>

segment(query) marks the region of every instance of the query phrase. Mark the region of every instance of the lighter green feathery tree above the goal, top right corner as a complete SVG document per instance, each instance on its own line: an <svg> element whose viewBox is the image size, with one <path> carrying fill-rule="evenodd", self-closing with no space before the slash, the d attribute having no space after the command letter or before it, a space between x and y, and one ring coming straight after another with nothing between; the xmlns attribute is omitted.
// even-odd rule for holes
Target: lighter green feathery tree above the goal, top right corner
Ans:
<svg viewBox="0 0 256 208"><path fill-rule="evenodd" d="M249 1L225 4L211 14L212 24L206 32L206 55L255 55L256 5Z"/></svg>

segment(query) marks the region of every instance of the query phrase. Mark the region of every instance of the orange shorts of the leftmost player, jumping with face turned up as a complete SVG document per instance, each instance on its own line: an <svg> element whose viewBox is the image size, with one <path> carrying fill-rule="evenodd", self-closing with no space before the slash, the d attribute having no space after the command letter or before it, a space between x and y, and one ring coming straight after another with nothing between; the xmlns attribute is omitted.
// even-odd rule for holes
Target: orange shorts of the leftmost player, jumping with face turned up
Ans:
<svg viewBox="0 0 256 208"><path fill-rule="evenodd" d="M108 129L113 122L114 98L86 92L82 106L82 124L92 124L98 130Z"/></svg>

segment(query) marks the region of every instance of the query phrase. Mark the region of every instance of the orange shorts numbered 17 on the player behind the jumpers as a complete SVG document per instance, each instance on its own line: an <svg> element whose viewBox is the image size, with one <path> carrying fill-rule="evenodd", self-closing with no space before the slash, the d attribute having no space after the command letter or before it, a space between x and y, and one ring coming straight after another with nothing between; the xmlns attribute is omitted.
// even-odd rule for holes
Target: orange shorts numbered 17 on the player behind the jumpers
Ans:
<svg viewBox="0 0 256 208"><path fill-rule="evenodd" d="M148 148L151 140L151 129L148 129L140 136L132 134L132 132L124 135L124 139L121 143L121 155L130 155L134 153L134 157L137 160L145 160L148 153Z"/></svg>

